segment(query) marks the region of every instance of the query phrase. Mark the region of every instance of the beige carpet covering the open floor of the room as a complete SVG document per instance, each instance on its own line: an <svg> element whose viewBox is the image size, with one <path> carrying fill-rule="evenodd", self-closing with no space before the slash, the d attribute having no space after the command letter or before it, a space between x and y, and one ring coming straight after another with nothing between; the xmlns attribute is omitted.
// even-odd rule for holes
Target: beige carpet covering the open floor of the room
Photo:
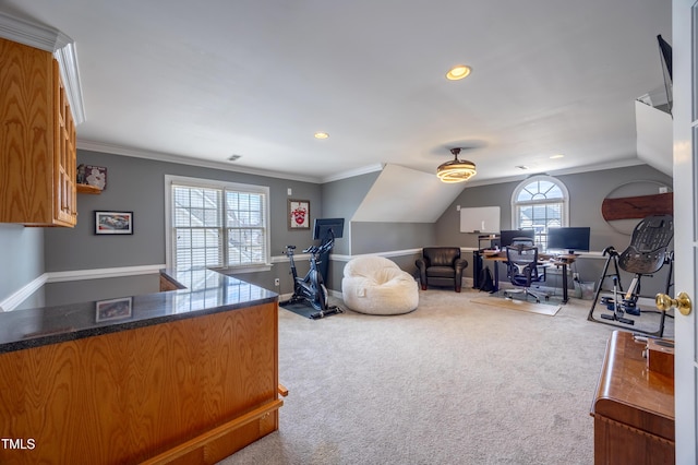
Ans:
<svg viewBox="0 0 698 465"><path fill-rule="evenodd" d="M220 465L593 464L589 409L615 329L587 321L590 300L545 318L471 301L485 297L420 290L390 317L279 311L279 430Z"/></svg>

